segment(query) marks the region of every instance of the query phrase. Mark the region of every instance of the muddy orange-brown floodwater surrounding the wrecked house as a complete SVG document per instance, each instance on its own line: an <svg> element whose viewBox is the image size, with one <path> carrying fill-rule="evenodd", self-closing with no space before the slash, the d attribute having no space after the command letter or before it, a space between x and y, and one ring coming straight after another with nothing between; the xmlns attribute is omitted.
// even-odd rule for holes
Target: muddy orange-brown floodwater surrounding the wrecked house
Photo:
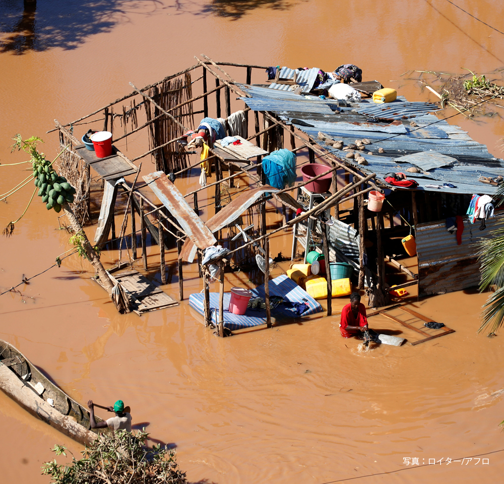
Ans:
<svg viewBox="0 0 504 484"><path fill-rule="evenodd" d="M502 30L502 2L454 3ZM191 66L202 52L218 61L326 71L353 63L363 80L379 80L410 101L435 98L414 80L419 73L407 71L491 73L504 67L504 35L445 0L39 0L35 12L24 14L22 0L5 0L0 27L2 164L26 159L10 154L16 133L43 138L43 151L55 156L57 136L45 134L54 118L76 119L131 92L129 81L156 82ZM266 79L259 71L254 76L256 83ZM501 114L458 115L450 123L501 157ZM153 171L150 159L144 165L143 172ZM181 190L197 186L198 175L180 181ZM25 176L19 165L0 166L0 192ZM208 200L211 195L209 190ZM19 217L30 196L31 188L23 189L0 203L2 229ZM69 235L56 230L56 214L39 200L11 238L0 238L0 292L70 249ZM268 216L271 223L279 217ZM86 230L91 236L95 227ZM289 254L291 235L276 235L272 252ZM167 253L171 283L164 289L177 298L175 255ZM117 257L116 251L102 253L107 267ZM153 273L158 261L158 247L149 247ZM409 264L414 269L416 259ZM273 275L287 267L274 267ZM498 392L504 389L504 336L476 334L488 294L466 290L420 300L412 294L415 311L456 332L366 352L358 341L340 336L338 317L324 313L222 339L203 326L187 300L142 317L118 315L91 275L91 266L73 256L19 286L21 293L0 296L0 338L81 403L124 400L137 428L176 446L191 482L502 479L498 423L504 394ZM247 280L243 273L226 274L226 289ZM196 264L184 266L186 299L201 289ZM333 311L346 304L334 301ZM401 329L394 324L381 316L370 319L372 327ZM2 483L48 482L40 465L52 458L54 444L68 445L74 454L82 450L2 392L0 429ZM438 463L407 466L405 458Z"/></svg>

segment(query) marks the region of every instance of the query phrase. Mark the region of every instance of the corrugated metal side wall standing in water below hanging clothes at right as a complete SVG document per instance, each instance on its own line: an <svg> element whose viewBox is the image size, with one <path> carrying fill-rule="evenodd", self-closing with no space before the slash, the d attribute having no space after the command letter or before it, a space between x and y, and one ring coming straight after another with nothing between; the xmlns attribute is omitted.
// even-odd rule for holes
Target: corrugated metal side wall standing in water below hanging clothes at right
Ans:
<svg viewBox="0 0 504 484"><path fill-rule="evenodd" d="M445 220L421 223L416 227L419 292L442 294L474 287L480 273L475 244L496 228L504 214L486 221L486 229L479 230L480 222L471 224L464 218L462 245L457 245L456 234L446 229Z"/></svg>

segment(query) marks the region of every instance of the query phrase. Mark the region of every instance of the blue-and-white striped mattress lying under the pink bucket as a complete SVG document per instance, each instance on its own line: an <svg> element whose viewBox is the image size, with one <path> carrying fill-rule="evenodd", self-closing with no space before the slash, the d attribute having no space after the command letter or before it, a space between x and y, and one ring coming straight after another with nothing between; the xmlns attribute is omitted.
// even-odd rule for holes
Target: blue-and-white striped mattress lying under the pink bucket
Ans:
<svg viewBox="0 0 504 484"><path fill-rule="evenodd" d="M289 279L285 274L276 277L269 281L270 297L282 296L284 300L291 302L305 302L309 309L305 311L302 316L309 316L311 314L320 313L322 306L313 299L304 289L299 287L293 280ZM250 289L253 293L252 297L265 298L264 284ZM233 314L227 311L231 293L224 293L224 326L230 330L237 330L242 328L250 328L252 326L259 326L266 324L266 310L253 310L247 309L244 315ZM191 294L189 296L189 305L201 315L204 314L204 296L202 292ZM219 318L219 293L210 293L210 313L211 319L214 324L217 324ZM301 317L302 317L301 316ZM272 321L280 321L283 319L298 318L293 309L285 308L282 304L271 310Z"/></svg>

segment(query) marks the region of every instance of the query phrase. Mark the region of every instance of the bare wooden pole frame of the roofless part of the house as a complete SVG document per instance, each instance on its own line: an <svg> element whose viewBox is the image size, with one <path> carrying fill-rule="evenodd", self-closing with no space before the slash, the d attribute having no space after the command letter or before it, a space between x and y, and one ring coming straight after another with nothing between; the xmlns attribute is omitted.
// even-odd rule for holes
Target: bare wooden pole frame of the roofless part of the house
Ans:
<svg viewBox="0 0 504 484"><path fill-rule="evenodd" d="M116 137L113 139L114 143L121 142L125 144L126 149L124 152L119 152L117 156L128 160L128 162L138 161L145 157L151 157L155 162L156 170L164 171L165 173L174 173L175 177L185 177L191 173L191 170L200 165L202 161L213 160L216 181L208 184L206 187L195 189L191 192L183 195L184 198L193 196L194 200L194 211L199 215L200 207L198 194L203 190L215 187L214 194L214 205L215 213L218 213L221 208L223 208L223 203L225 203L223 190L229 185L233 187L235 180L240 179L242 183L243 175L246 175L250 179L249 185L262 186L266 184L266 174L262 170L262 157L257 158L256 163L251 163L251 166L244 169L237 169L236 166L232 167L229 163L229 176L223 175L224 165L227 163L225 158L217 155L212 155L206 158L206 160L200 160L195 163L190 163L188 161L188 152L184 151L184 139L183 136L187 130L194 129L198 125L194 122L194 115L196 113L203 113L204 117L215 116L219 118L222 111L224 111L225 116L231 115L232 109L236 107L235 95L247 98L249 95L244 92L237 85L237 82L231 77L230 74L224 70L224 67L231 67L235 70L242 70L245 75L245 83L250 84L253 77L253 72L259 70L264 70L266 67L246 65L246 64L235 64L235 63L224 63L224 62L214 62L209 57L202 55L203 59L196 58L197 64L194 66L180 71L177 74L165 77L159 82L150 84L141 89L134 86L133 91L116 99L115 101L108 103L100 109L97 109L90 114L80 117L68 123L66 125L61 125L56 123L55 131L58 130L61 136L65 136L65 139L71 139L73 146L69 152L73 153L77 159L79 155L75 153L75 146L79 144L77 138L72 135L72 130L74 126L80 123L87 123L88 119L96 114L103 114L103 129L108 131L114 131L114 123L117 124L117 119L120 120L123 133L118 135L117 126L115 126ZM212 81L211 79L214 79ZM192 80L194 79L194 80ZM215 87L214 87L215 86ZM198 91L197 89L200 89ZM221 91L224 90L224 105L221 105ZM215 97L214 97L215 94ZM129 103L125 106L124 103ZM128 107L128 108L127 108ZM243 109L244 115L246 117L246 126L248 130L248 111L250 108L246 107ZM143 116L144 119L141 119ZM262 118L262 119L261 119ZM263 128L261 129L261 122L263 123ZM49 132L50 132L49 131ZM286 206L283 205L283 220L280 227L277 227L268 232L266 225L266 208L267 202L272 198L281 201L279 195L293 192L298 187L302 187L312 180L308 180L293 187L285 188L276 194L270 195L269 197L263 197L257 204L254 205L253 209L258 215L258 226L260 227L260 236L256 237L253 241L245 243L236 247L231 251L229 255L226 256L227 262L233 254L239 251L255 251L253 247L259 242L264 243L264 250L266 252L265 265L266 273L264 276L265 282L265 293L266 293L266 312L267 312L267 327L271 327L271 311L269 304L269 238L271 235L275 234L280 230L288 230L294 224L306 220L308 217L319 220L321 214L327 210L335 207L336 219L340 218L340 205L344 202L355 199L356 206L358 207L358 227L359 227L359 240L361 254L359 254L360 261L360 271L359 271L359 288L363 289L364 280L364 267L363 267L363 246L364 246L364 231L367 226L367 218L364 214L364 194L370 190L382 191L379 184L374 181L374 174L366 175L360 172L353 165L349 165L344 159L337 157L335 154L328 152L324 147L318 144L317 139L311 139L304 132L294 127L293 125L286 125L280 118L274 114L266 111L254 111L254 129L253 133L248 133L247 140L252 141L257 144L258 147L262 147L265 151L271 152L277 147L282 147L284 145L284 140L287 137L290 141L290 149L293 152L298 152L301 150L307 150L308 158L311 162L316 159L327 164L328 169L325 173L321 173L314 179L320 178L328 173L332 174L332 195L327 198L323 203L314 207L312 210L306 211L301 215L294 217L291 220L287 220L285 215ZM132 140L140 137L143 140L143 152L139 152L139 143L132 143ZM128 145L128 140L130 144ZM180 144L180 141L182 143ZM148 147L145 143L148 143ZM300 146L296 146L296 143ZM148 148L148 149L145 149ZM89 165L87 165L89 167ZM86 168L89 171L89 168ZM251 170L256 170L255 173ZM345 187L338 189L338 175L337 172L343 171L348 176L352 176L352 181L347 183ZM83 175L83 183L89 183L87 180L90 179L89 173ZM138 176L138 174L137 174ZM176 181L175 181L176 185ZM177 266L178 266L178 278L179 278L179 298L183 300L183 265L181 260L182 245L187 237L184 233L182 227L174 217L164 213L164 206L154 203L150 198L145 195L144 191L147 190L145 185L137 184L137 186L128 187L127 184L123 184L123 187L130 192L130 196L133 197L131 203L131 211L127 209L124 214L124 223L127 222L127 217L131 218L131 228L132 228L132 257L133 260L137 258L137 238L136 238L136 215L140 218L140 235L141 235L141 258L142 264L145 271L152 269L148 266L147 259L147 230L151 232L151 238L159 240L160 248L160 260L159 260L159 272L161 274L161 282L166 283L166 271L165 271L165 244L164 240L168 237L169 244L176 244L177 248ZM353 193L350 193L353 192ZM89 190L88 190L89 199ZM207 192L208 193L208 192ZM239 192L238 192L239 193ZM294 192L295 193L295 192ZM412 199L415 201L415 199ZM146 205L150 207L146 211ZM417 211L416 204L414 203L414 217L415 225L417 223ZM123 224L124 225L124 224ZM171 225L171 227L170 227ZM357 225L357 224L356 224ZM154 228L153 228L154 227ZM379 217L379 223L377 224L376 234L379 237L379 248L382 247L381 234L383 230L383 219ZM171 230L170 230L171 228ZM231 230L231 229L230 229ZM121 230L121 233L124 233ZM228 237L229 237L228 231ZM217 237L220 239L219 234ZM329 247L328 247L328 233L327 225L322 224L322 237L324 245L324 253L326 256L327 267L329 268ZM379 251L380 252L380 251ZM246 252L245 252L246 253ZM381 252L383 261L383 251ZM198 250L198 261L201 276L203 278L203 292L205 300L205 325L211 324L210 320L210 309L209 309L209 278L210 274L205 267L200 265L203 254L201 250ZM380 258L379 258L380 260ZM225 263L220 262L220 277L219 277L219 290L220 290L220 304L219 304L219 320L217 322L217 334L219 336L225 335L224 326L222 323L222 294L224 291L225 275L224 268ZM330 272L328 270L328 272ZM384 265L379 264L378 272L378 287L384 290ZM330 275L327 278L328 281L328 315L331 314L331 279Z"/></svg>

